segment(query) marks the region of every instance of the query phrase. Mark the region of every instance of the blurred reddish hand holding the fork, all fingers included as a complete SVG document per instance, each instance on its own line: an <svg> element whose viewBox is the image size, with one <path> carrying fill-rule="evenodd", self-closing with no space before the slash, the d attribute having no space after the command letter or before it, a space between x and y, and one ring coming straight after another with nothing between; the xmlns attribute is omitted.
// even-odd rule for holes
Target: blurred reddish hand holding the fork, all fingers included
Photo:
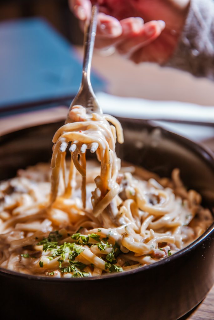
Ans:
<svg viewBox="0 0 214 320"><path fill-rule="evenodd" d="M116 50L136 63L163 64L174 52L190 0L99 0L95 46ZM69 0L83 23L90 18L90 0Z"/></svg>

